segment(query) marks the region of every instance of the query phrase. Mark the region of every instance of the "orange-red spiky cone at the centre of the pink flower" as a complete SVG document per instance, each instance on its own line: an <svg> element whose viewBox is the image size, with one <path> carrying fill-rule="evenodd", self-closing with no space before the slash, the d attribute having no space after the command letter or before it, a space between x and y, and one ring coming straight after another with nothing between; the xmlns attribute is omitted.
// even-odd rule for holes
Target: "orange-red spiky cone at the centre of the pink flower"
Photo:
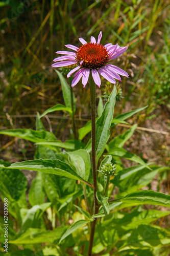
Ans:
<svg viewBox="0 0 170 256"><path fill-rule="evenodd" d="M89 43L82 45L77 51L78 63L83 60L82 67L86 69L98 69L109 62L109 55L103 45Z"/></svg>

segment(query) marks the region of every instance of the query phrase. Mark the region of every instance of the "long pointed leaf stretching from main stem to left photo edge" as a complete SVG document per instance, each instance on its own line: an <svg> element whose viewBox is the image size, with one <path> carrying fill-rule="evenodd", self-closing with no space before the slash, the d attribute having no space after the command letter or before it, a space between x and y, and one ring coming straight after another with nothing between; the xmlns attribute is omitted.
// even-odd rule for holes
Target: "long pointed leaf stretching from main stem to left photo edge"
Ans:
<svg viewBox="0 0 170 256"><path fill-rule="evenodd" d="M0 165L0 167L8 169L26 169L26 170L36 170L37 172L42 173L51 173L55 175L64 176L67 178L83 181L84 183L92 186L88 182L84 181L67 163L60 161L58 159L38 159L23 161L20 163L13 163L8 167Z"/></svg>

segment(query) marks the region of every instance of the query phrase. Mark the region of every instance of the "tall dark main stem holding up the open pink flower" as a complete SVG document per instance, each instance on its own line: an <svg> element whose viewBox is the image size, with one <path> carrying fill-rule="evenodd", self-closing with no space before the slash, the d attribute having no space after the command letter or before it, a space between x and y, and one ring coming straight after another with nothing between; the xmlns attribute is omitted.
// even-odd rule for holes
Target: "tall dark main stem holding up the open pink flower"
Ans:
<svg viewBox="0 0 170 256"><path fill-rule="evenodd" d="M92 160L92 174L93 174L93 200L94 200L94 215L98 214L99 206L98 200L96 198L96 191L97 191L97 176L96 176L96 152L95 152L95 83L93 81L91 72L89 76L89 84L90 84L90 103L91 103L91 160ZM91 224L91 232L90 232L90 241L89 241L89 248L88 248L88 255L91 255L93 240L94 240L94 232L95 232L95 224L97 218Z"/></svg>

